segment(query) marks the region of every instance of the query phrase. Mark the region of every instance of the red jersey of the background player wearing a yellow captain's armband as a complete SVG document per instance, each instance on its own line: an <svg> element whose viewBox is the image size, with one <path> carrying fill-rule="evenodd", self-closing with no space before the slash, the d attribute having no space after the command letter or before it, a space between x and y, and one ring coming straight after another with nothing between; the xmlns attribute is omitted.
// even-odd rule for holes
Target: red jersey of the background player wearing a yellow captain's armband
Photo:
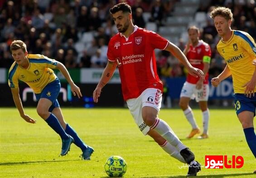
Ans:
<svg viewBox="0 0 256 178"><path fill-rule="evenodd" d="M209 44L205 43L203 40L199 40L199 43L196 47L193 47L190 44L188 53L187 53L187 58L189 63L196 68L199 68L201 70L203 70L203 58L207 57L208 59L211 58L211 48L209 46ZM209 61L210 62L210 61ZM205 75L205 79L203 81L203 84L208 84L208 72ZM199 80L199 77L194 77L190 74L188 74L187 77L187 82L192 83L192 84L196 84Z"/></svg>

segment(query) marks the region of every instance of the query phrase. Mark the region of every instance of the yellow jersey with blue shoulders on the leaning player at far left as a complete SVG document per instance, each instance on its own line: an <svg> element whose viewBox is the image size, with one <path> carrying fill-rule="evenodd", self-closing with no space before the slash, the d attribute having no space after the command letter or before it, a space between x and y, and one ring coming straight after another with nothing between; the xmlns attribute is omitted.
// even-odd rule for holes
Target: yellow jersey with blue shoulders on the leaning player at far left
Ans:
<svg viewBox="0 0 256 178"><path fill-rule="evenodd" d="M51 68L56 68L57 61L40 54L28 54L29 67L20 67L16 62L9 70L8 84L11 88L19 87L19 80L25 82L34 93L41 93L43 88L57 77Z"/></svg>

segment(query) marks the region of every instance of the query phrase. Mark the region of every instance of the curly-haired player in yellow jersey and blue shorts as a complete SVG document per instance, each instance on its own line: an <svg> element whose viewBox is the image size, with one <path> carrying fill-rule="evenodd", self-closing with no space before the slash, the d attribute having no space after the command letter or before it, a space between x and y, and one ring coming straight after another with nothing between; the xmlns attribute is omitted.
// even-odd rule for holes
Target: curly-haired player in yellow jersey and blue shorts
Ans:
<svg viewBox="0 0 256 178"><path fill-rule="evenodd" d="M232 75L235 109L242 124L247 144L256 157L256 135L253 118L256 108L256 44L246 32L232 30L232 12L225 7L217 7L210 13L218 34L222 37L217 50L227 63L225 69L212 79L217 87L225 78Z"/></svg>

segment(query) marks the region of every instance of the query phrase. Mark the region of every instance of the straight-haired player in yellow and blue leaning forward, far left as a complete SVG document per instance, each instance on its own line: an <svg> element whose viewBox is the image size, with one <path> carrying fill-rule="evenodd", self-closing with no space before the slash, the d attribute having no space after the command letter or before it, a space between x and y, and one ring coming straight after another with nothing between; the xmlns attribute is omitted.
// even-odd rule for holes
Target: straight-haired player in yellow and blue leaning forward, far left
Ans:
<svg viewBox="0 0 256 178"><path fill-rule="evenodd" d="M89 160L94 150L85 144L79 138L76 131L65 122L57 100L60 91L60 82L52 68L56 68L62 72L70 84L74 96L78 96L78 98L82 97L80 88L74 84L66 67L62 63L43 55L28 54L26 44L21 40L14 40L10 45L10 51L14 58L14 63L9 70L8 83L20 116L29 123L36 123L36 120L24 113L19 96L18 80L25 82L33 89L38 100L38 115L60 135L62 139L61 156L67 154L70 145L74 143L82 150L82 159Z"/></svg>

